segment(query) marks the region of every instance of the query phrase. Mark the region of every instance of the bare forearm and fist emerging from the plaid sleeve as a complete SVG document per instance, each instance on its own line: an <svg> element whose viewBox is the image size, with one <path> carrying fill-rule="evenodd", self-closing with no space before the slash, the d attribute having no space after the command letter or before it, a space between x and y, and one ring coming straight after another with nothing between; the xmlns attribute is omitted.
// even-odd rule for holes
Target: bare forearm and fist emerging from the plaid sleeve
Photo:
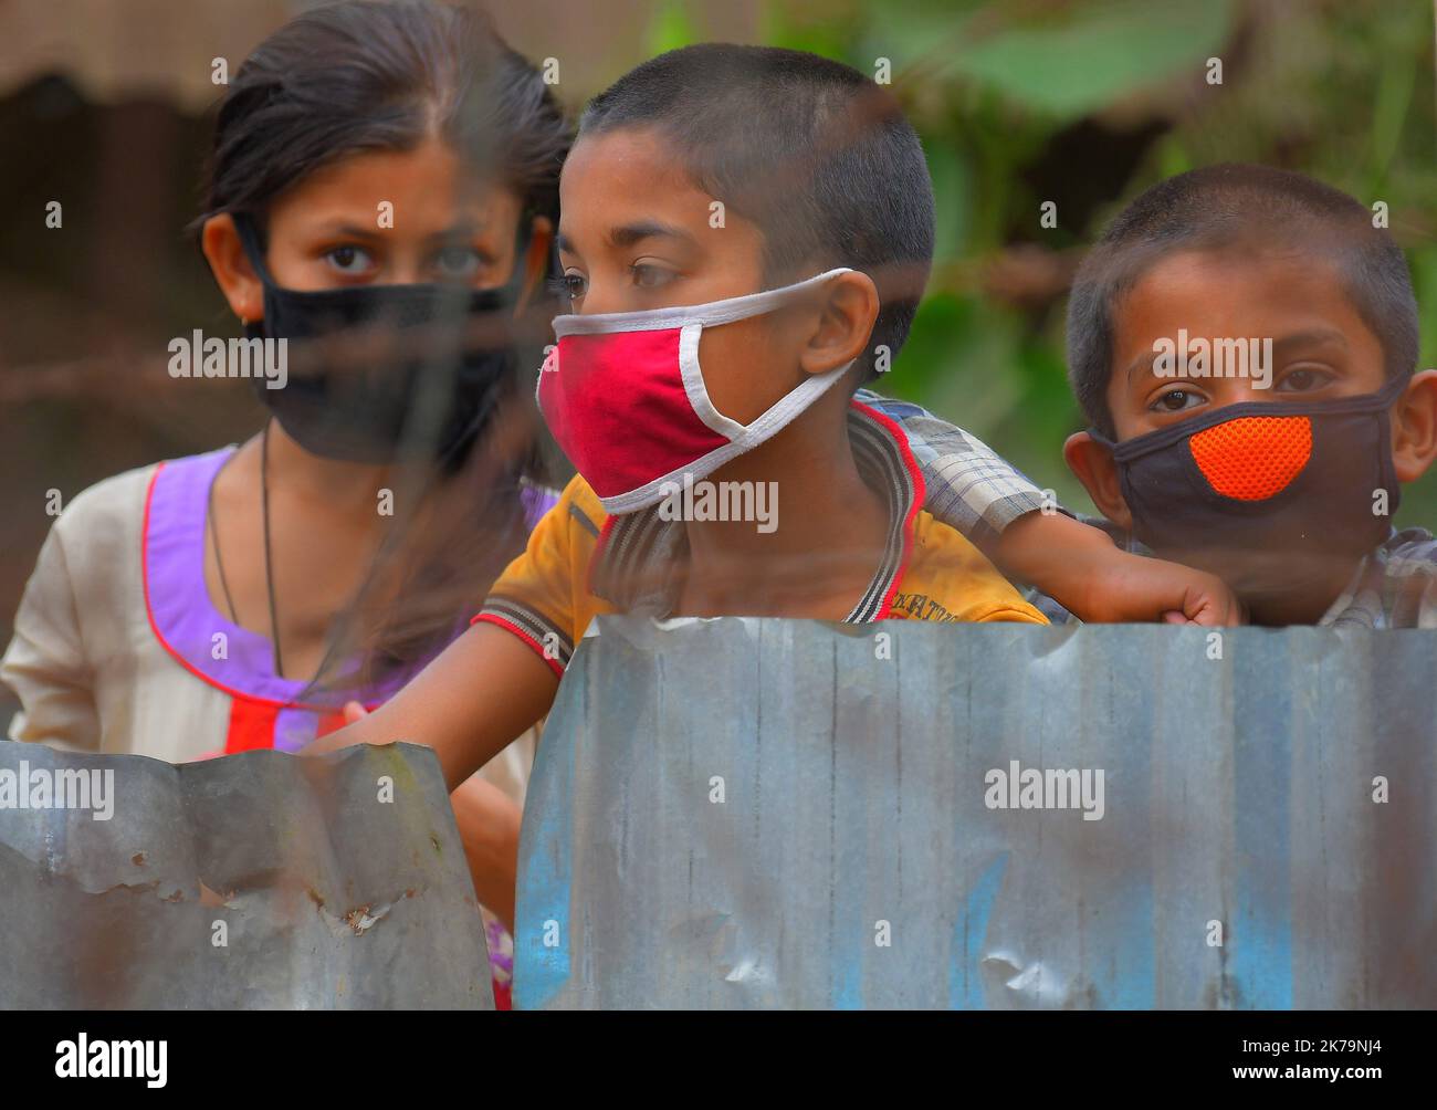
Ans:
<svg viewBox="0 0 1437 1110"><path fill-rule="evenodd" d="M1119 551L1106 533L1062 513L1029 513L1003 532L994 561L1092 623L1242 624L1223 579Z"/></svg>

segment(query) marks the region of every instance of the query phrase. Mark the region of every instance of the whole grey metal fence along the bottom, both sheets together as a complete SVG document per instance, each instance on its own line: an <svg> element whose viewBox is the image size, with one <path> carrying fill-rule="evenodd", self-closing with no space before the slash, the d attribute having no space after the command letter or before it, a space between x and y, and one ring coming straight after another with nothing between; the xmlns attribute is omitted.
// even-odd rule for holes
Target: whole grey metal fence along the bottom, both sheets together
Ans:
<svg viewBox="0 0 1437 1110"><path fill-rule="evenodd" d="M1430 633L596 631L529 786L517 1006L1437 1005ZM0 937L3 1006L491 1005L405 745L3 742Z"/></svg>

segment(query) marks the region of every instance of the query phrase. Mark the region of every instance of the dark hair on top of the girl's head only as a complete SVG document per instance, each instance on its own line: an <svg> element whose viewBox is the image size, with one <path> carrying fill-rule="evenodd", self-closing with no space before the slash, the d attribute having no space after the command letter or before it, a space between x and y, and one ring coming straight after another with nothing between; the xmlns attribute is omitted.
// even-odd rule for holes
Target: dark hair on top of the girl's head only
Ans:
<svg viewBox="0 0 1437 1110"><path fill-rule="evenodd" d="M453 142L525 201L559 214L572 129L549 86L489 17L424 0L305 12L244 60L220 105L205 214L247 213L359 151Z"/></svg>

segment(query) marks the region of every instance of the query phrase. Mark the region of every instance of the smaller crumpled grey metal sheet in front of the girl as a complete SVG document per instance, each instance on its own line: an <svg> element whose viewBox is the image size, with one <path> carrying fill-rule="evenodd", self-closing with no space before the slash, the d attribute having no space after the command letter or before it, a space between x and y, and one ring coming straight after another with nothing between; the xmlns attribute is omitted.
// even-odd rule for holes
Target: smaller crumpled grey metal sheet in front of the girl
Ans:
<svg viewBox="0 0 1437 1110"><path fill-rule="evenodd" d="M114 812L0 808L0 1006L493 1006L427 748L171 766L4 740L0 805L22 768L112 771Z"/></svg>

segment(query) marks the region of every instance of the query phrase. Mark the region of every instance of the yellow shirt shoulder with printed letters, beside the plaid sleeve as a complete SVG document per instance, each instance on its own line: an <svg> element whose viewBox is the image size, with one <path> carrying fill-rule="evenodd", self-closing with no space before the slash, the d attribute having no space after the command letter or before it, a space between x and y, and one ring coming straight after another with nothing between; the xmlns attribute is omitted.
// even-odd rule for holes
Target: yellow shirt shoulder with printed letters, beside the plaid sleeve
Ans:
<svg viewBox="0 0 1437 1110"><path fill-rule="evenodd" d="M928 512L914 518L912 549L890 615L927 621L1048 623L983 552Z"/></svg>

